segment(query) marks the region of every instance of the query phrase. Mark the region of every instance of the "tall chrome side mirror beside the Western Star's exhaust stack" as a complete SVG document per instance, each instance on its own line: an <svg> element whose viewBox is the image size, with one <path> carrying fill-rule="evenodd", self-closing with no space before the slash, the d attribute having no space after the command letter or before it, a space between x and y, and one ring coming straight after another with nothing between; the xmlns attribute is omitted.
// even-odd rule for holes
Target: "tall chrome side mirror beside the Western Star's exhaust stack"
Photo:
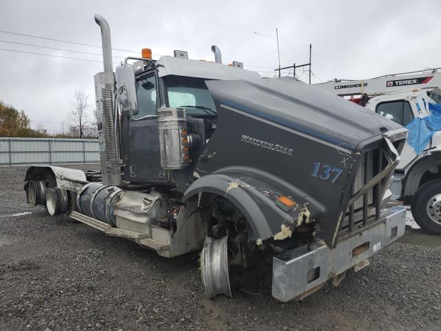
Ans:
<svg viewBox="0 0 441 331"><path fill-rule="evenodd" d="M136 99L135 73L133 66L124 63L115 70L116 91L118 92L119 105L122 116L138 114L138 101Z"/></svg>

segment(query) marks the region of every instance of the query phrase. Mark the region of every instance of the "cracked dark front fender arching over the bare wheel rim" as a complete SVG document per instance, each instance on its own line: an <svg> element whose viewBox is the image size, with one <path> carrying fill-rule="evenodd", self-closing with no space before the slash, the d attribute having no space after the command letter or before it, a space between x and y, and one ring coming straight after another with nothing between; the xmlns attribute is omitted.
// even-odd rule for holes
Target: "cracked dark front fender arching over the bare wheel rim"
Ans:
<svg viewBox="0 0 441 331"><path fill-rule="evenodd" d="M234 203L252 228L249 240L254 241L291 237L302 220L307 222L324 211L320 203L291 184L250 167L228 167L207 174L189 186L183 200L201 199L201 194L217 194ZM288 212L276 205L283 195L296 203Z"/></svg>

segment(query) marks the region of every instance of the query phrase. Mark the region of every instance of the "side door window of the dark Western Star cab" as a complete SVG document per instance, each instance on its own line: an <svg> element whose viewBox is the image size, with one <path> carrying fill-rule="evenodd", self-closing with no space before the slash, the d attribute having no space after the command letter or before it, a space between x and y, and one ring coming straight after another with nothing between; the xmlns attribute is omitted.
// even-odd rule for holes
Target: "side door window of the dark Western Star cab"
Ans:
<svg viewBox="0 0 441 331"><path fill-rule="evenodd" d="M135 87L139 112L133 115L133 119L156 115L156 77L150 76L136 81Z"/></svg>

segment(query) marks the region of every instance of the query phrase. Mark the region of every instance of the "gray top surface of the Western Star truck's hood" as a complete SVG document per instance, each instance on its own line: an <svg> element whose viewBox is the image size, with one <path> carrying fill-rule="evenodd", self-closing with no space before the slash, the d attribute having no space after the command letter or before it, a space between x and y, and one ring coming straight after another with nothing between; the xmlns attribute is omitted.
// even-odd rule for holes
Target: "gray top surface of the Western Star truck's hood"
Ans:
<svg viewBox="0 0 441 331"><path fill-rule="evenodd" d="M351 151L361 141L402 128L356 103L289 77L206 83L218 106L246 112Z"/></svg>

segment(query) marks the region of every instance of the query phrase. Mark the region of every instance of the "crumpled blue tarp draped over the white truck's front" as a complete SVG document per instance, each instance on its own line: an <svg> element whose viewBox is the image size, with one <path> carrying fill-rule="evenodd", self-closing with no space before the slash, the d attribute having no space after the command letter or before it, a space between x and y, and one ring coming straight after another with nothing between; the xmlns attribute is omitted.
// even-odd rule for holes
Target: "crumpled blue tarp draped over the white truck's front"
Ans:
<svg viewBox="0 0 441 331"><path fill-rule="evenodd" d="M413 147L417 154L427 148L427 144L431 141L433 133L441 130L441 103L429 103L431 114L422 119L416 117L407 124L409 130L407 134L407 143Z"/></svg>

